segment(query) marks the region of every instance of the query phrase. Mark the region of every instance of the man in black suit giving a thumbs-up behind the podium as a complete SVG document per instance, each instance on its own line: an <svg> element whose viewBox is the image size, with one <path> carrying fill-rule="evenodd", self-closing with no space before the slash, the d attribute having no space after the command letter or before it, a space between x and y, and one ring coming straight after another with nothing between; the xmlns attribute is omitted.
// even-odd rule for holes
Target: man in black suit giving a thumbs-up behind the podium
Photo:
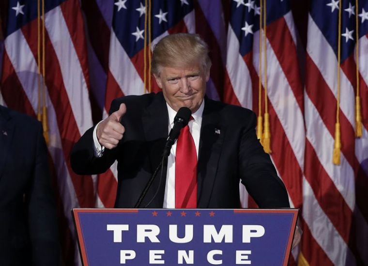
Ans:
<svg viewBox="0 0 368 266"><path fill-rule="evenodd" d="M163 38L154 47L152 63L163 92L115 99L110 116L89 129L75 145L73 170L97 174L117 160L115 207L134 207L161 161L173 117L179 108L187 107L193 117L188 126L196 162L198 158L194 170L185 169L197 173L196 184L187 194L195 193L196 203L181 207L239 208L239 181L260 207L289 207L286 188L257 140L255 114L205 97L210 67L207 45L198 35L181 33ZM178 206L175 149L176 143L164 167L163 180L154 180L142 206L151 200L148 207Z"/></svg>

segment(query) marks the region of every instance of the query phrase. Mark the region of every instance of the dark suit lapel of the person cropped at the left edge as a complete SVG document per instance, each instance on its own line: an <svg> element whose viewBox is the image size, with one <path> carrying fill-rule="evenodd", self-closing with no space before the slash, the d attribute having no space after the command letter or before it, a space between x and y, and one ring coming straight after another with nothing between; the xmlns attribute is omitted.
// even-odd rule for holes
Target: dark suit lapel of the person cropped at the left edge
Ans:
<svg viewBox="0 0 368 266"><path fill-rule="evenodd" d="M13 132L14 121L11 119L8 110L0 107L0 180L6 165L6 157L13 139Z"/></svg>

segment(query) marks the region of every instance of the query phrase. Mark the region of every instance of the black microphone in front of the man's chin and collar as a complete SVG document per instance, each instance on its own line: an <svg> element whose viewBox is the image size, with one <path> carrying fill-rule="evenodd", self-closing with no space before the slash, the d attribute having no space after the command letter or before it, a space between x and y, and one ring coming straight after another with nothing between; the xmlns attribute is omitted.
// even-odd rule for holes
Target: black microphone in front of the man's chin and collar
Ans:
<svg viewBox="0 0 368 266"><path fill-rule="evenodd" d="M185 126L188 125L190 116L192 115L192 111L187 107L182 107L179 109L177 114L174 118L174 126L171 128L169 137L166 140L163 156L169 156L170 149L172 144L178 139L180 130Z"/></svg>

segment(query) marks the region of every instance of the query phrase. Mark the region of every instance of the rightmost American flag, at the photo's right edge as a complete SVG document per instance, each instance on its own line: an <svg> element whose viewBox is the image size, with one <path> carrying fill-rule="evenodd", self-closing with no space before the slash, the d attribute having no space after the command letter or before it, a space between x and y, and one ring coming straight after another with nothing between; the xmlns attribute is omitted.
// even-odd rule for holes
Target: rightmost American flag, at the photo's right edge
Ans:
<svg viewBox="0 0 368 266"><path fill-rule="evenodd" d="M366 10L367 0L313 0L310 3L304 98L303 219L304 231L311 236L311 241L310 248L307 248L307 239L304 239L302 252L313 264L368 264ZM339 92L338 55L341 66ZM359 62L358 70L356 62ZM363 116L361 138L355 138L357 71ZM342 148L341 164L334 165L331 163L331 147L334 145L338 94Z"/></svg>

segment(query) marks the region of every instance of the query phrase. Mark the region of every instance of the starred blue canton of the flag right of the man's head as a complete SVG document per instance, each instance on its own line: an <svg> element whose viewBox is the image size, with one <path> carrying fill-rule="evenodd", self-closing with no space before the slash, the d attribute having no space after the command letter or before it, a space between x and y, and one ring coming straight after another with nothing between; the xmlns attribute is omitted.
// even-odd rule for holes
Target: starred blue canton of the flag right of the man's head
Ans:
<svg viewBox="0 0 368 266"><path fill-rule="evenodd" d="M290 11L288 1L267 0L267 25ZM260 1L232 0L230 24L238 38L242 56L253 49L253 32L260 29Z"/></svg>

